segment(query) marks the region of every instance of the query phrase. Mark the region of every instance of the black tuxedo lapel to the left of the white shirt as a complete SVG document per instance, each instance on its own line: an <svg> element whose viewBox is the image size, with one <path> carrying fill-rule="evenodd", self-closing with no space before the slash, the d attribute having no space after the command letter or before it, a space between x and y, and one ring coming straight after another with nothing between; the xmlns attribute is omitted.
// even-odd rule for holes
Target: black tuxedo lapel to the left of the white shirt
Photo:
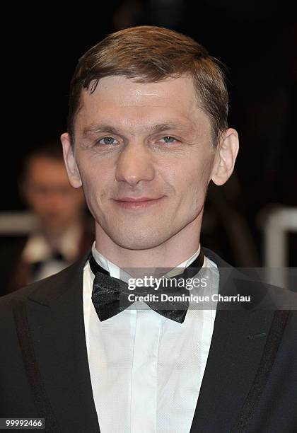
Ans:
<svg viewBox="0 0 297 433"><path fill-rule="evenodd" d="M50 405L49 422L63 432L100 432L83 322L83 266L87 258L57 277L36 283L25 309L15 308L17 323L18 318L25 320L25 313L28 318L30 331L23 334L21 347L36 405L39 412L51 413Z"/></svg>

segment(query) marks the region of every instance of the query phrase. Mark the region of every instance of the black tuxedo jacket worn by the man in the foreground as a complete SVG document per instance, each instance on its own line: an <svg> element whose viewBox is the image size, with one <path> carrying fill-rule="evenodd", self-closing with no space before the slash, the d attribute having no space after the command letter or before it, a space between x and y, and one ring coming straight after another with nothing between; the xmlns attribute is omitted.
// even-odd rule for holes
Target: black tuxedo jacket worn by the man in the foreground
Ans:
<svg viewBox="0 0 297 433"><path fill-rule="evenodd" d="M46 432L100 432L83 323L87 258L0 299L0 417L44 417ZM229 270L219 292L247 291ZM293 433L296 412L296 311L219 309L190 433Z"/></svg>

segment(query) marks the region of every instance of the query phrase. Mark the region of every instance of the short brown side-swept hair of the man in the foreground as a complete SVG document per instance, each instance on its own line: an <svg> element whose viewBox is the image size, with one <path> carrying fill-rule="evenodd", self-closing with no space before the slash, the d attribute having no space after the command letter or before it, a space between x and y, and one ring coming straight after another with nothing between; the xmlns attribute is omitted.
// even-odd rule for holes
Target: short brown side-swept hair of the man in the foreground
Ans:
<svg viewBox="0 0 297 433"><path fill-rule="evenodd" d="M83 54L71 79L68 132L72 144L83 89L95 91L99 80L106 76L153 83L190 74L202 109L210 117L215 146L228 128L228 91L222 67L191 37L167 28L141 25L108 35Z"/></svg>

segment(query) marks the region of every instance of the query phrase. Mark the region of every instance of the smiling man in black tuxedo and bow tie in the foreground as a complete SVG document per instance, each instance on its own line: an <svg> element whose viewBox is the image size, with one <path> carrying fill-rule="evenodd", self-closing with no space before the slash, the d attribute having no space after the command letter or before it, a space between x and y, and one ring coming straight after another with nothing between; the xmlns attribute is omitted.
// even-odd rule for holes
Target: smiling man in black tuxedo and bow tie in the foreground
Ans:
<svg viewBox="0 0 297 433"><path fill-rule="evenodd" d="M207 186L238 153L227 112L219 62L172 30L121 30L81 57L61 139L95 243L1 300L1 416L51 432L294 431L296 315L256 308L265 290L199 243ZM211 269L206 294L248 291L252 306L136 308L123 275L141 267Z"/></svg>

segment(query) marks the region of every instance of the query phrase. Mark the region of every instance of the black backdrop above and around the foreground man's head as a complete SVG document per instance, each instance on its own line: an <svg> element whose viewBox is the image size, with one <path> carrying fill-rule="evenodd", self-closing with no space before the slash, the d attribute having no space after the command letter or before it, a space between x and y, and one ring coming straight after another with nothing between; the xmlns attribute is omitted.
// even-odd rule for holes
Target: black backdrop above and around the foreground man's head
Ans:
<svg viewBox="0 0 297 433"><path fill-rule="evenodd" d="M297 31L288 4L130 0L104 7L72 4L68 11L52 4L12 9L2 18L1 210L23 209L16 180L25 154L66 130L69 81L78 58L119 28L163 25L194 37L228 67L229 125L238 129L241 148L231 186L222 194L245 218L261 262L267 209L297 206ZM219 228L206 230L206 246L234 261ZM293 235L289 245L296 251ZM290 260L296 266L296 255Z"/></svg>

